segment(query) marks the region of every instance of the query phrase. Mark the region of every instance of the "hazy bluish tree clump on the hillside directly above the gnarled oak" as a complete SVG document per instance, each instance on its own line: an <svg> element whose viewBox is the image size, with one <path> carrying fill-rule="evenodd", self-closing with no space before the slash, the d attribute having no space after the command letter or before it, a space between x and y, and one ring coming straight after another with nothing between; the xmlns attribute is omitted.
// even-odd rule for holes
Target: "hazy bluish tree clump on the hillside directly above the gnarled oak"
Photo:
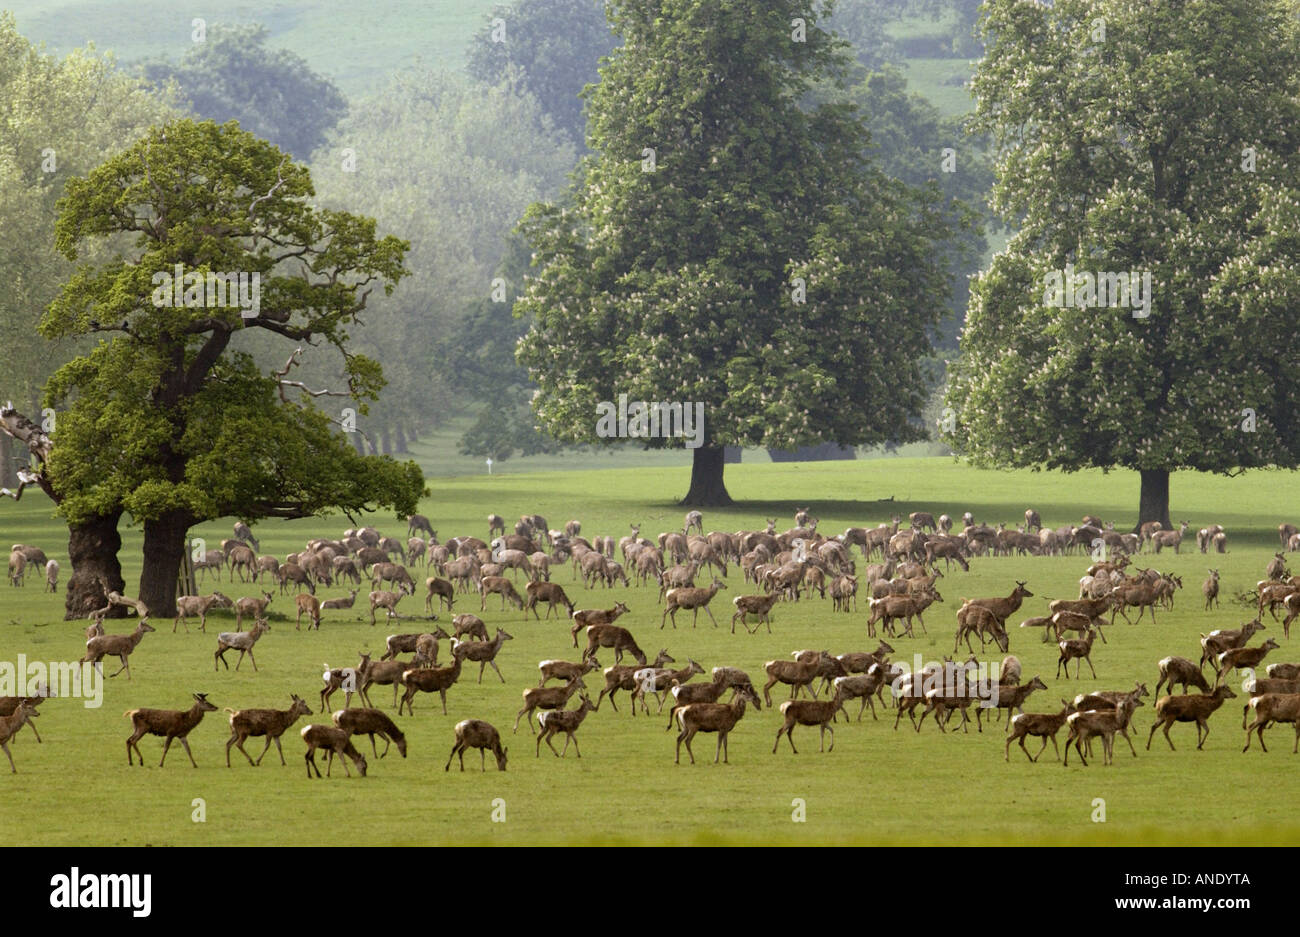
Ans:
<svg viewBox="0 0 1300 937"><path fill-rule="evenodd" d="M248 133L306 160L347 113L347 100L302 56L266 48L269 38L261 25L213 23L179 62L144 62L143 73L160 86L176 82L199 118L239 121Z"/></svg>

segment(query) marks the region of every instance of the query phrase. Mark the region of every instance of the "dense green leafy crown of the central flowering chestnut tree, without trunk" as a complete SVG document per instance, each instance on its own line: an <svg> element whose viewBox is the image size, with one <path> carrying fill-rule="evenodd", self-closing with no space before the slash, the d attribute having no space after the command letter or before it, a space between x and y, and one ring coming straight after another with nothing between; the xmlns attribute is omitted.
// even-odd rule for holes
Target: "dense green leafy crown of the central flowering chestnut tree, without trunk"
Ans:
<svg viewBox="0 0 1300 937"><path fill-rule="evenodd" d="M794 0L634 0L611 18L624 45L590 97L597 155L521 222L540 270L517 357L543 426L595 441L595 404L625 392L703 403L705 444L922 438L946 225L935 192L871 161L852 104L801 107L842 75L842 44Z"/></svg>

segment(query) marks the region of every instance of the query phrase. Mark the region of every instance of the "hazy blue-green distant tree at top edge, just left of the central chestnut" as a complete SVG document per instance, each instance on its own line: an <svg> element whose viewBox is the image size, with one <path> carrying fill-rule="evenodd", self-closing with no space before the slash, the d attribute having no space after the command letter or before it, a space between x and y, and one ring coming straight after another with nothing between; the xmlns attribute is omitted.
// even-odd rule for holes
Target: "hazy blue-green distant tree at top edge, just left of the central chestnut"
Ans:
<svg viewBox="0 0 1300 937"><path fill-rule="evenodd" d="M489 84L520 78L555 126L582 146L580 95L599 81L597 68L615 43L603 0L515 0L485 17L469 43L467 70Z"/></svg>

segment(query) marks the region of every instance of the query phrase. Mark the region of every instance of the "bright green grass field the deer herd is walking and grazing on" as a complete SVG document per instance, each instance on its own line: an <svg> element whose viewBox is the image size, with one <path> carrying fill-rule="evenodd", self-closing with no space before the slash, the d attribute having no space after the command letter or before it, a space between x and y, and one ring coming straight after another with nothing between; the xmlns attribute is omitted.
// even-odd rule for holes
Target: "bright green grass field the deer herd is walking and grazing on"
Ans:
<svg viewBox="0 0 1300 937"><path fill-rule="evenodd" d="M1131 473L976 472L944 459L738 465L728 467L727 476L732 495L744 504L705 512L706 529L758 526L764 517L777 517L784 526L793 508L803 504L811 506L823 529L832 533L850 522L874 525L918 508L970 509L978 520L1010 522L1030 506L1048 525L1076 522L1084 512L1095 512L1124 526L1138 498ZM588 534L621 535L632 521L642 522L644 533L654 533L680 522L675 499L685 482L684 469L658 468L433 478L436 496L424 509L443 539L455 533L484 535L484 519L491 511L506 517L541 511L552 526L577 517ZM1193 526L1223 524L1230 552L1214 558L1187 550L1180 556L1162 554L1156 560L1158 568L1180 573L1188 587L1178 595L1175 611L1161 613L1158 624L1149 617L1132 626L1121 620L1108 629L1110 643L1098 643L1093 652L1098 680L1056 680L1054 646L1039 643L1036 632L1027 635L1013 629L1011 651L1023 661L1026 680L1037 673L1050 687L1031 697L1028 710L1056 708L1060 697L1083 690L1126 689L1136 678L1154 687L1161 656L1197 659L1200 632L1248 619L1244 607L1228 602L1222 611L1202 612L1197 584L1206 567L1214 565L1222 571L1225 594L1252 586L1274 548L1273 528L1297 495L1300 482L1294 473L1252 473L1238 480L1175 476L1175 519L1186 517ZM881 500L889 498L894 500ZM400 533L391 517L373 520L381 530ZM0 524L9 542L42 545L66 565L66 534L51 519L48 503L29 495L18 504L6 504L0 509ZM264 524L256 533L264 551L282 556L309 535L338 534L344 526L343 519L316 519ZM139 537L134 529L124 533L126 578L134 587ZM228 535L229 524L205 525L194 533L216 542ZM953 612L961 597L1006 594L1013 580L1023 578L1035 598L1022 612L1040 615L1048 599L1075 595L1075 581L1086 565L1080 556L997 558L976 560L968 574L954 568L940 584L946 603L927 613L930 634L894 641L894 658L910 663L914 654L937 660L950 652ZM779 604L771 635L766 630L732 635L729 599L751 589L737 571L728 572L728 591L716 600L718 629L706 616L692 629L688 613L679 615L676 632L671 626L660 630L660 607L653 590L589 594L578 587L576 602L578 607L627 602L632 611L620 624L630 628L649 654L667 647L681 664L693 658L706 669L732 664L758 676L763 661L788 658L800 647L827 647L835 654L874 647L864 632L864 606L857 613L836 615L829 599ZM568 569L555 578L569 587ZM209 580L204 589L213 585ZM251 587L226 582L220 589L230 595L252 594ZM421 603L422 598L406 599L399 610L422 613ZM291 607L289 598L277 595L272 612L282 615L286 607ZM0 593L0 661L12 663L18 654L43 661L77 659L82 624L61 621L61 608L62 597L42 594L35 578L23 589L5 587ZM456 611L478 612L478 603L458 599ZM1290 729L1270 733L1269 754L1252 749L1243 755L1236 721L1242 700L1230 700L1212 719L1205 751L1195 750L1195 728L1180 725L1174 730L1178 751L1157 738L1147 752L1148 700L1135 719L1136 759L1121 739L1114 765L1100 764L1098 749L1096 764L1084 768L1071 760L1069 769L1050 750L1037 764L1030 764L1019 751L1004 763L1001 729L941 734L927 720L918 734L905 720L896 732L892 716L881 713L880 721L871 721L870 712L861 724L838 724L831 752L818 752L815 733L800 729L800 754L793 755L783 741L774 755L780 721L764 707L750 711L732 733L729 765L711 763L715 737L701 734L698 763L692 767L673 764L675 734L664 732L666 716L633 717L625 694L620 694L619 712L602 704L582 726L581 759L572 751L563 760L549 751L534 758L528 751L533 736L523 726L519 734L510 733L520 691L536 685L538 660L577 659L578 652L569 643L566 621L524 623L514 610L499 611L498 602L489 603L482 617L489 629L499 625L515 635L499 656L506 685L490 668L480 685L467 668L448 693L446 716L436 697L421 695L416 700L420 711L399 720L410 739L406 760L395 751L382 760L365 751L370 771L364 780L341 776L316 781L304 776L304 749L298 738L306 720L285 736L287 767L277 764L272 751L255 769L235 751L234 767L226 768L225 713L211 713L191 734L198 771L178 746L160 769L161 743L153 738L140 746L147 767L129 768L122 754L130 725L122 712L140 706L185 707L196 691L231 708L287 707L290 693L318 704L324 661L351 665L359 650L378 656L386 634L421 626L386 626L381 620L372 628L355 612L333 612L318 633L295 632L291 616L287 621L274 616L273 630L257 645L260 672L254 673L244 661L239 673L213 673L214 633L229 629L230 620L213 617L207 634L196 625L188 634L173 634L166 616L160 615L153 620L159 632L146 635L131 658L134 678L127 682L124 674L107 681L100 708L84 708L74 699L47 700L38 720L44 743L35 743L27 729L10 743L20 773L0 771L6 794L0 798L0 825L10 830L13 842L98 845L315 845L338 842L343 825L350 843L1258 845L1300 840L1300 823L1290 807L1300 790L1297 762L1286 750ZM112 630L127 630L126 624L113 623ZM1268 624L1265 637L1282 641L1280 628ZM447 655L446 642L442 652ZM1270 661L1294 656L1283 642ZM602 656L601 663L614 661ZM113 669L116 664L107 672ZM589 680L589 686L594 697L602 681ZM774 689L774 702L786 694ZM391 710L390 691L378 689L373 699ZM455 767L443 773L451 726L465 717L488 719L503 730L510 746L507 772L495 772L489 758L488 773L480 773L472 754L465 773ZM328 721L328 716L311 721ZM260 746L255 741L250 746L256 756ZM88 808L91 797L100 806ZM191 819L196 798L205 804L203 823ZM491 820L498 798L504 802L503 823ZM792 821L796 798L806 804L805 823ZM1105 823L1092 821L1095 798L1105 801ZM1221 807L1206 808L1209 798ZM105 802L113 808L104 808Z"/></svg>

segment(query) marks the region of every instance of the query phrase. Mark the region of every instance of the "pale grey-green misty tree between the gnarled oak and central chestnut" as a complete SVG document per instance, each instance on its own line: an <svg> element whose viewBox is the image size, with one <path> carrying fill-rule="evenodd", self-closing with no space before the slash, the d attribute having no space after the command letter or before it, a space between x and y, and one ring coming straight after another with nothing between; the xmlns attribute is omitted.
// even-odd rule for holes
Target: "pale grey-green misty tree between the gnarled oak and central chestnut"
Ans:
<svg viewBox="0 0 1300 937"><path fill-rule="evenodd" d="M355 149L355 172L344 148ZM324 204L364 204L413 246L404 289L377 298L352 330L354 347L381 361L389 379L363 429L406 426L413 435L503 386L521 387L521 326L510 302L491 302L491 281L502 276L504 291L517 292L526 255L502 266L506 235L530 201L559 191L575 160L532 96L403 71L361 101L318 156Z"/></svg>

